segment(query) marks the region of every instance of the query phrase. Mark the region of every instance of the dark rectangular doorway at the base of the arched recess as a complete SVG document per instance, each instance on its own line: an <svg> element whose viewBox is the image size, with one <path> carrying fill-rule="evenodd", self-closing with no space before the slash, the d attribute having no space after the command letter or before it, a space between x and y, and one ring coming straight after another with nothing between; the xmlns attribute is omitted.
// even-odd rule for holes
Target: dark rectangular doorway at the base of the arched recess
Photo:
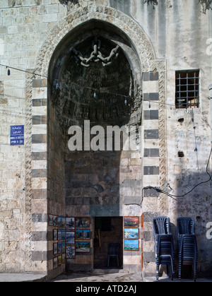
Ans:
<svg viewBox="0 0 212 296"><path fill-rule="evenodd" d="M95 217L94 219L94 268L123 268L123 218ZM110 258L108 266L109 244L119 244L119 266L115 257Z"/></svg>

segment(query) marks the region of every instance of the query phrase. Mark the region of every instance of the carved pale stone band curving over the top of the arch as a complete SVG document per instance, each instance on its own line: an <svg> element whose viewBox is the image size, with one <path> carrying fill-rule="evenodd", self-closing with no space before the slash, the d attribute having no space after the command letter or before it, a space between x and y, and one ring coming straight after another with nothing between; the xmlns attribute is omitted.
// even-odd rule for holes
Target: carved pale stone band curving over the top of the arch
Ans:
<svg viewBox="0 0 212 296"><path fill-rule="evenodd" d="M47 40L45 40L37 54L36 73L47 76L49 60L59 42L66 36L66 34L73 30L73 28L92 19L112 23L114 26L117 26L117 28L125 32L141 59L143 71L148 71L149 62L155 59L155 53L151 41L139 24L129 16L126 16L124 13L117 11L114 8L101 5L90 5L73 11L69 16L60 20L59 23L52 28Z"/></svg>

